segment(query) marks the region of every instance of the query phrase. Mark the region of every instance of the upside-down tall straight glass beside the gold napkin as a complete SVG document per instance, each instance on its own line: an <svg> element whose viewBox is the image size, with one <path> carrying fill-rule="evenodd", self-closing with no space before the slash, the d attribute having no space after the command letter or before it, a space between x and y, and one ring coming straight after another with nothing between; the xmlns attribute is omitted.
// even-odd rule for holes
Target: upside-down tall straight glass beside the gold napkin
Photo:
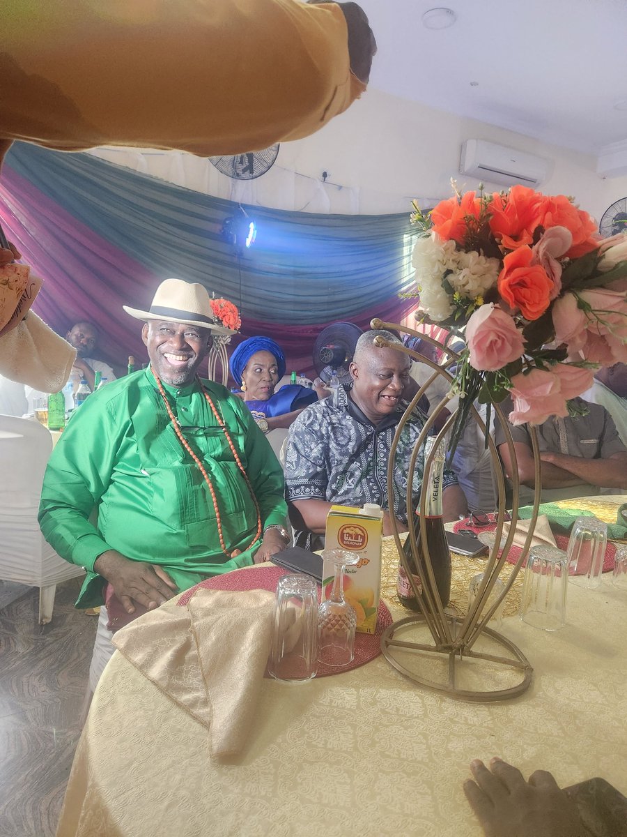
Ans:
<svg viewBox="0 0 627 837"><path fill-rule="evenodd" d="M318 588L303 574L278 579L268 674L276 680L311 680L318 668Z"/></svg>

